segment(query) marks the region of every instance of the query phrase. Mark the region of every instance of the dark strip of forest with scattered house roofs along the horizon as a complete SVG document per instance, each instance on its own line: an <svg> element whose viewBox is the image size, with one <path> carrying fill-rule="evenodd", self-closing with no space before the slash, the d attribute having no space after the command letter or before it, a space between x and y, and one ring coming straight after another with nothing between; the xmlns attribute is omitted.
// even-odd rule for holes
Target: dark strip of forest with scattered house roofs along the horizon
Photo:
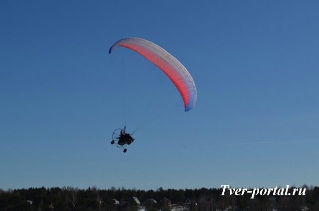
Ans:
<svg viewBox="0 0 319 211"><path fill-rule="evenodd" d="M289 193L293 193L293 188ZM319 187L305 195L222 195L221 188L136 190L111 187L0 189L0 211L319 211Z"/></svg>

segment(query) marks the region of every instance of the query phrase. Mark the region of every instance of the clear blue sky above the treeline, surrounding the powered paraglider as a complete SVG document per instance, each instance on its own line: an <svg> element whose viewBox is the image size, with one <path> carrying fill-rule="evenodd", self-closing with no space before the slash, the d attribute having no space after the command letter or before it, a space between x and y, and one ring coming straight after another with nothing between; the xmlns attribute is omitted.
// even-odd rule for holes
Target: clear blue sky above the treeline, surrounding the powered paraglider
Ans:
<svg viewBox="0 0 319 211"><path fill-rule="evenodd" d="M315 0L0 1L0 188L318 186L318 11ZM124 37L166 49L198 92L126 154L110 144L123 114L108 54Z"/></svg>

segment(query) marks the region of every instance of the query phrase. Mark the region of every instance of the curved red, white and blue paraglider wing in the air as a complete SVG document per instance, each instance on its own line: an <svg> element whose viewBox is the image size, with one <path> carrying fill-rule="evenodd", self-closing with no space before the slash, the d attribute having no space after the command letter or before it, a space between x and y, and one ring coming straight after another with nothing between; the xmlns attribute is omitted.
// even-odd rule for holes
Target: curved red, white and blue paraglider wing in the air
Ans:
<svg viewBox="0 0 319 211"><path fill-rule="evenodd" d="M122 46L134 50L158 66L178 89L185 106L185 111L196 104L197 92L194 81L186 68L160 46L142 38L129 37L117 41L109 50Z"/></svg>

